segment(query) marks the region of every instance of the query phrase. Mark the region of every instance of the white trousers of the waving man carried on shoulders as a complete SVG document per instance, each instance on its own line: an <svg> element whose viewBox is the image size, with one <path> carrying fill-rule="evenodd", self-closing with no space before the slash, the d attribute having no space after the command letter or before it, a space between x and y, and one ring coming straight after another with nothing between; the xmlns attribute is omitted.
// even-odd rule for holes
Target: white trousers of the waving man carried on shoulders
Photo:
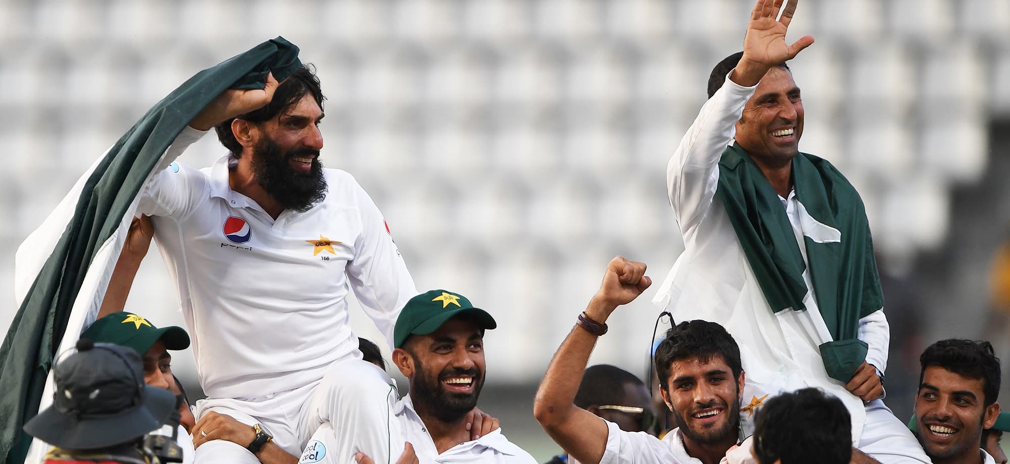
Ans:
<svg viewBox="0 0 1010 464"><path fill-rule="evenodd" d="M867 403L867 422L863 426L860 451L882 464L930 463L926 452L883 399Z"/></svg>

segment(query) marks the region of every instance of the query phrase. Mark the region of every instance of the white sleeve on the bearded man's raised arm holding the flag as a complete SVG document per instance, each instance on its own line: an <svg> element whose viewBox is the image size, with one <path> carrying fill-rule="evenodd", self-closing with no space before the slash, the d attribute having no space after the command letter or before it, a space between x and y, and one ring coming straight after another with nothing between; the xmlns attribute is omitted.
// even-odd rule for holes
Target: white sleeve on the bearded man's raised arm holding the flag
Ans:
<svg viewBox="0 0 1010 464"><path fill-rule="evenodd" d="M196 200L193 181L202 179L202 176L198 170L180 166L174 161L205 133L186 126L172 145L169 145L169 149L165 151L158 164L158 169L140 191L137 213L148 216L179 216L189 211Z"/></svg>

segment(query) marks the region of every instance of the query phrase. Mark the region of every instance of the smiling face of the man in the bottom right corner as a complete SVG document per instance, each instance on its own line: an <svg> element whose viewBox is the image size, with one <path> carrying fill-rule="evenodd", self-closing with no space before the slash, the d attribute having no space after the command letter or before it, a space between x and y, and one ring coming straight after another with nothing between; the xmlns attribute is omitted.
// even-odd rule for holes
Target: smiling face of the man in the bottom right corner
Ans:
<svg viewBox="0 0 1010 464"><path fill-rule="evenodd" d="M979 456L982 430L996 424L999 403L986 407L983 379L928 366L915 397L919 442L934 463Z"/></svg>

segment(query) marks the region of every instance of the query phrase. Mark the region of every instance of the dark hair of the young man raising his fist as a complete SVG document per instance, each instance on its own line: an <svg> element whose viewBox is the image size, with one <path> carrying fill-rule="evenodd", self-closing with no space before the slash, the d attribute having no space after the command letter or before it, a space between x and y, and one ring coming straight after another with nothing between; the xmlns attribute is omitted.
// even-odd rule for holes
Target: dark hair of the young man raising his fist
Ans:
<svg viewBox="0 0 1010 464"><path fill-rule="evenodd" d="M740 347L736 340L722 326L708 321L682 322L667 331L666 338L655 348L655 372L660 378L660 388L669 391L670 372L674 361L697 356L707 363L713 356L719 356L733 372L733 379L740 378Z"/></svg>

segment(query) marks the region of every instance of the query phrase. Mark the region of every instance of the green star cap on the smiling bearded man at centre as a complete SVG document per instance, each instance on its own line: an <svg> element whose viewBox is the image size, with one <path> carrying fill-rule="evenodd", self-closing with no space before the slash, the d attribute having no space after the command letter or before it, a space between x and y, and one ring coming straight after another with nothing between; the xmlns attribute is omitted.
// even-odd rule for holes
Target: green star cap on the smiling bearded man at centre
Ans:
<svg viewBox="0 0 1010 464"><path fill-rule="evenodd" d="M480 308L474 308L467 297L443 289L433 289L410 299L404 305L393 329L393 345L402 348L403 342L407 341L407 337L411 334L430 334L445 324L445 321L461 314L471 316L481 329L498 327L495 318Z"/></svg>

